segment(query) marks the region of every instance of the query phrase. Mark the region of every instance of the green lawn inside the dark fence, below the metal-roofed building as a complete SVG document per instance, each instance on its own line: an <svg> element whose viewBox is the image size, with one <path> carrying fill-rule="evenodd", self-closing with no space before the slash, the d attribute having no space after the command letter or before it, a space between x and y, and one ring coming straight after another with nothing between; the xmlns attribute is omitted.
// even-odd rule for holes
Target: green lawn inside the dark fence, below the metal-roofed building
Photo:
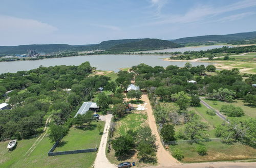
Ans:
<svg viewBox="0 0 256 168"><path fill-rule="evenodd" d="M69 134L63 137L61 143L54 151L95 148L99 145L101 139L101 134L99 134L99 131L97 130L98 125L102 125L102 127L104 127L104 122L93 122L92 127L90 128L70 128ZM103 131L103 129L101 131Z"/></svg>

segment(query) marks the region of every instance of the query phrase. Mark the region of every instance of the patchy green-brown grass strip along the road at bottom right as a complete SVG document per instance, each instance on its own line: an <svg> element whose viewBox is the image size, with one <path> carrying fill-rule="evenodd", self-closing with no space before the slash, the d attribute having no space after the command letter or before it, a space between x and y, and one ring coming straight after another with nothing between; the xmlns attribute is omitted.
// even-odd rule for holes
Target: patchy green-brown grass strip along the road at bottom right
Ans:
<svg viewBox="0 0 256 168"><path fill-rule="evenodd" d="M175 149L182 150L184 154L182 162L256 159L256 149L240 143L227 145L221 142L205 142L202 144L207 148L207 155L205 156L201 156L197 153L196 148L198 144L196 143L193 143L192 145L188 143L172 145L169 146L169 149L172 151Z"/></svg>

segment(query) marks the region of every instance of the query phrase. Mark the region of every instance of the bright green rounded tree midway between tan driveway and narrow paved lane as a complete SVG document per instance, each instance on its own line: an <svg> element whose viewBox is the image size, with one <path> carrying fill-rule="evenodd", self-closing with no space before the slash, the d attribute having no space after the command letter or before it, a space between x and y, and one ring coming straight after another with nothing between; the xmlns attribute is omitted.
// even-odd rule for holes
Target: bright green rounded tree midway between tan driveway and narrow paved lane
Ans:
<svg viewBox="0 0 256 168"><path fill-rule="evenodd" d="M175 101L181 109L186 109L191 101L191 97L184 91L171 95L172 100Z"/></svg>

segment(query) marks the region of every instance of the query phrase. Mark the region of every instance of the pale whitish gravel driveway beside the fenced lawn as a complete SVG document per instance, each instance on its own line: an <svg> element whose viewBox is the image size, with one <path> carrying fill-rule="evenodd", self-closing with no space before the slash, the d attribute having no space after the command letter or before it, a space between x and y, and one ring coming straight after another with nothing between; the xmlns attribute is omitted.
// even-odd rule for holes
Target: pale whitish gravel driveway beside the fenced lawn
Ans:
<svg viewBox="0 0 256 168"><path fill-rule="evenodd" d="M114 167L117 167L117 165L112 164L112 163L109 162L108 158L106 158L106 152L105 152L106 144L108 142L108 135L109 135L109 128L110 128L111 118L112 118L112 115L109 114L109 115L104 116L104 118L101 119L102 121L105 121L105 127L104 127L104 130L103 130L103 135L101 137L100 145L99 145L99 148L98 148L98 153L97 153L97 156L96 156L96 159L95 159L95 162L94 162L94 167L95 168L102 168L102 167L105 167L105 168L112 168L113 167L114 168Z"/></svg>

